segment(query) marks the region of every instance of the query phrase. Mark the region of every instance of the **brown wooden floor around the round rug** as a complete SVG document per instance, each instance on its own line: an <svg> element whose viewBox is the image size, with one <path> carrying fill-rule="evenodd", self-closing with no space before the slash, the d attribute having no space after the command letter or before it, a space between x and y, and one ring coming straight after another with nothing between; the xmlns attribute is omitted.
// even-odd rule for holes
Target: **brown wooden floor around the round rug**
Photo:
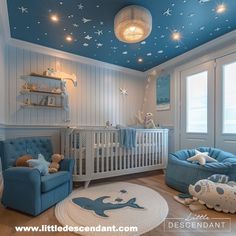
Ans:
<svg viewBox="0 0 236 236"><path fill-rule="evenodd" d="M169 218L183 218L187 217L190 214L190 211L187 207L177 203L173 200L173 195L177 194L177 192L165 185L164 175L158 171L152 173L145 174L136 174L132 176L123 176L112 179L103 180L103 182L116 182L116 181L127 181L130 183L136 183L140 185L147 186L159 192L167 201L169 205ZM100 181L92 182L92 185L96 185ZM75 186L78 187L78 186ZM218 213L213 210L204 210L198 212L198 214L207 214L210 218L231 218L232 222L232 232L231 233L183 233L183 232L175 232L168 233L164 232L164 226L161 224L154 230L145 234L145 236L162 236L162 235L170 235L170 236L198 236L198 235L213 235L214 236L222 236L222 235L236 235L236 215ZM16 233L14 230L14 226L41 226L43 224L46 225L59 225L54 215L54 207L47 210L37 217L30 217L19 212L5 209L2 205L0 205L0 236L23 236L23 235L37 235L37 236L74 236L72 233ZM111 234L112 235L112 234Z"/></svg>

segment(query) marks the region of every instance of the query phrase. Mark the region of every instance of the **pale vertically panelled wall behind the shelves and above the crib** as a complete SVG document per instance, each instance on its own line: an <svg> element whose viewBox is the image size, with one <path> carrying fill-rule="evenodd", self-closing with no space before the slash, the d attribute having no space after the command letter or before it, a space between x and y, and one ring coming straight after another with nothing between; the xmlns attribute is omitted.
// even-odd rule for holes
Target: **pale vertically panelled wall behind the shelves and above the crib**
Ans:
<svg viewBox="0 0 236 236"><path fill-rule="evenodd" d="M14 46L8 46L7 62L6 115L10 125L105 125L108 120L114 125L125 125L132 123L135 114L141 109L145 83L143 77ZM21 108L21 102L26 96L20 94L24 84L21 76L31 72L42 74L48 67L75 73L78 78L77 87L67 82L70 123L65 123L65 112L60 109ZM34 82L40 81L42 80ZM58 82L49 83L56 86ZM128 96L121 95L120 88L127 89ZM40 97L36 98L38 101L39 99Z"/></svg>

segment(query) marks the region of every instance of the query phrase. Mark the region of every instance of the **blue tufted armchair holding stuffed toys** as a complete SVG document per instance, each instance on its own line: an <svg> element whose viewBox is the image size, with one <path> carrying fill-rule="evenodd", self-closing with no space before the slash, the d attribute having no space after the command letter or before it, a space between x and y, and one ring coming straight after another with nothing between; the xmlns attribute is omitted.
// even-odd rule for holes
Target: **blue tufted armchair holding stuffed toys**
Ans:
<svg viewBox="0 0 236 236"><path fill-rule="evenodd" d="M50 139L30 137L0 142L5 207L36 216L71 193L74 160L64 159L57 173L45 176L37 169L14 167L18 157L29 154L37 158L39 153L50 161L53 154Z"/></svg>

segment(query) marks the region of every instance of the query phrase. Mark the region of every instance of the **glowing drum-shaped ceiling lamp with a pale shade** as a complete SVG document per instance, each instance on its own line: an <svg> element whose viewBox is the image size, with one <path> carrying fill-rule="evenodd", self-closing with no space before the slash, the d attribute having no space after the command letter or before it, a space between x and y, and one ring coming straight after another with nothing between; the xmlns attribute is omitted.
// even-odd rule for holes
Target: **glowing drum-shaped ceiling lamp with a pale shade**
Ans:
<svg viewBox="0 0 236 236"><path fill-rule="evenodd" d="M116 37L125 43L138 43L152 31L152 15L149 10L137 5L121 9L115 16Z"/></svg>

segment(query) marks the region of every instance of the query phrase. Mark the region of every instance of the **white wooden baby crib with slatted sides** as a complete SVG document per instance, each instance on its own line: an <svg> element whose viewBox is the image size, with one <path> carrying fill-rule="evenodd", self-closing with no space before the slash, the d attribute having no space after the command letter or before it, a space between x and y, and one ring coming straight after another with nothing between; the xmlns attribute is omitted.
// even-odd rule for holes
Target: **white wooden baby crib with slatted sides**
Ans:
<svg viewBox="0 0 236 236"><path fill-rule="evenodd" d="M135 148L120 146L119 130L105 127L66 128L62 153L75 160L74 181L127 175L166 168L168 129L137 129Z"/></svg>

